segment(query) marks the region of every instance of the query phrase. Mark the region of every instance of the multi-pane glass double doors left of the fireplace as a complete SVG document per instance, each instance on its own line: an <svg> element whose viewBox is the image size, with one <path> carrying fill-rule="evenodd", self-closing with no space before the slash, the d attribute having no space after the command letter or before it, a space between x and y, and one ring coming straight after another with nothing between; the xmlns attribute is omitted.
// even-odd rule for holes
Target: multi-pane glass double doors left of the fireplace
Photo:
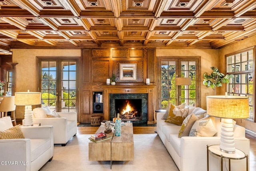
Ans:
<svg viewBox="0 0 256 171"><path fill-rule="evenodd" d="M42 59L39 62L42 105L48 105L52 111L76 111L77 61Z"/></svg>

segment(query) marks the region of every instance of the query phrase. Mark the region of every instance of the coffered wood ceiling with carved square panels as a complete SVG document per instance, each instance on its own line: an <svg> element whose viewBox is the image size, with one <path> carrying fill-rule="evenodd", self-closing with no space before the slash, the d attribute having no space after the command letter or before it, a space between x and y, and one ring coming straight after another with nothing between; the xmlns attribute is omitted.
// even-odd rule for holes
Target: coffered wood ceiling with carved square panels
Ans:
<svg viewBox="0 0 256 171"><path fill-rule="evenodd" d="M256 34L256 0L0 0L10 48L212 48Z"/></svg>

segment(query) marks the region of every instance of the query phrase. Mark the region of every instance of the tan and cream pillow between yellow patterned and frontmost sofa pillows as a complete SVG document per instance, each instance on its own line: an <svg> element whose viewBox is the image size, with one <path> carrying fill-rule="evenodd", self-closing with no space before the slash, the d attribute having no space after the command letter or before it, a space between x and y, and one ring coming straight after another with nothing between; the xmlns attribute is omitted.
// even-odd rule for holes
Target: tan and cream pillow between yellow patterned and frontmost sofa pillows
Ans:
<svg viewBox="0 0 256 171"><path fill-rule="evenodd" d="M195 121L199 120L199 119L202 119L204 117L204 115L195 115L194 113L188 115L181 127L180 127L180 131L179 131L179 135L178 137L181 138L181 137L185 137L185 136L188 136L189 133L190 133L190 130L192 128L192 126L194 125Z"/></svg>

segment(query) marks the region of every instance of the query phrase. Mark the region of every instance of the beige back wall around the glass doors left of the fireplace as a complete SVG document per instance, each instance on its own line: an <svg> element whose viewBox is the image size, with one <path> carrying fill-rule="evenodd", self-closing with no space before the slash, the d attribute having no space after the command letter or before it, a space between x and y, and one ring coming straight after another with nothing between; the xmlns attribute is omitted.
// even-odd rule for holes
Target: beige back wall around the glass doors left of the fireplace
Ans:
<svg viewBox="0 0 256 171"><path fill-rule="evenodd" d="M16 92L37 91L37 56L81 56L81 50L12 49L12 62L16 65ZM24 107L16 107L16 118L24 118Z"/></svg>

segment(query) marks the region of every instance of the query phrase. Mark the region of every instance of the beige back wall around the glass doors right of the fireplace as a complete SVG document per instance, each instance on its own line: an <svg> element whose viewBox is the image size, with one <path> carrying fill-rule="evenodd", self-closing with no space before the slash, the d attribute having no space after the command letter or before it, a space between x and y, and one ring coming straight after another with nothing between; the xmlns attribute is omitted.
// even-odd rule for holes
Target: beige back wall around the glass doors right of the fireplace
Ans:
<svg viewBox="0 0 256 171"><path fill-rule="evenodd" d="M203 85L203 73L212 72L211 67L219 66L218 59L219 50L209 50L209 49L157 49L156 56L200 56L201 58L201 77L200 77L200 86L201 86L201 107L206 109L206 93L209 95L214 95L214 90L212 88L207 88ZM219 87L217 87L216 93L218 93Z"/></svg>

